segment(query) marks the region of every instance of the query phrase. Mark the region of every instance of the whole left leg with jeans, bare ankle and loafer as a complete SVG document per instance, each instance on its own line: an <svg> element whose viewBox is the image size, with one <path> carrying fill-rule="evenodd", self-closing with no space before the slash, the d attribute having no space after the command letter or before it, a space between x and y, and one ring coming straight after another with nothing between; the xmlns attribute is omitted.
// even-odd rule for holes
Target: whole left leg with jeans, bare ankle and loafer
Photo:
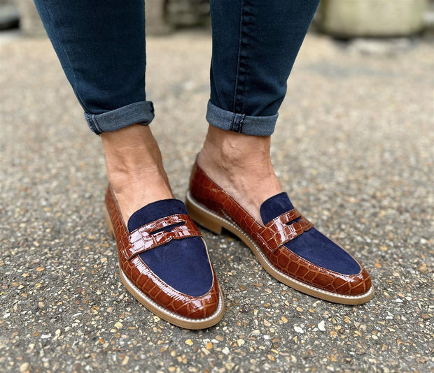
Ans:
<svg viewBox="0 0 434 373"><path fill-rule="evenodd" d="M110 186L106 222L120 278L145 307L183 328L208 328L223 297L200 231L172 196L145 97L144 1L36 0L90 129L101 135Z"/></svg>

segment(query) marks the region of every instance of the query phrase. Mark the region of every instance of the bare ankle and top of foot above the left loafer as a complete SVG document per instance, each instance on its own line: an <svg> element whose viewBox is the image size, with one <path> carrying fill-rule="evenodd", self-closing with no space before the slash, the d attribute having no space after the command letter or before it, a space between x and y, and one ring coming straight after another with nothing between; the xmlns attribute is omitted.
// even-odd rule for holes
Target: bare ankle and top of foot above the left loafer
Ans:
<svg viewBox="0 0 434 373"><path fill-rule="evenodd" d="M134 124L104 132L101 140L109 183L125 224L141 207L155 200L174 198L149 126Z"/></svg>

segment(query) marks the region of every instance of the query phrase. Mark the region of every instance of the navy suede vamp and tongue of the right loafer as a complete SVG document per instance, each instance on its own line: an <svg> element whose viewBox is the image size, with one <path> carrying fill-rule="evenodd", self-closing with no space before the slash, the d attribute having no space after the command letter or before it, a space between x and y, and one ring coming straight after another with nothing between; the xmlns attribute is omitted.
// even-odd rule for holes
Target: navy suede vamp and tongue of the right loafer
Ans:
<svg viewBox="0 0 434 373"><path fill-rule="evenodd" d="M279 193L265 200L260 207L262 222L267 224L279 215L293 210L287 193ZM290 221L288 224L293 223ZM286 242L285 247L293 251L294 254L301 256L307 261L327 268L343 275L356 275L360 272L360 266L351 256L341 247L337 246L328 237L316 228L302 233L293 240Z"/></svg>

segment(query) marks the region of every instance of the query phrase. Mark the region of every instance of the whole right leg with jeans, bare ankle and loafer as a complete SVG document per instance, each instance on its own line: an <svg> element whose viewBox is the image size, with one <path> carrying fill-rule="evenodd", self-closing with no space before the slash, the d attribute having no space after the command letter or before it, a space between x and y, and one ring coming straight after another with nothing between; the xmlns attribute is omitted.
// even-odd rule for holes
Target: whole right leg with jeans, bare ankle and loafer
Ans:
<svg viewBox="0 0 434 373"><path fill-rule="evenodd" d="M372 298L370 276L294 208L269 154L286 80L316 6L211 0L210 126L186 200L193 219L237 235L283 284L356 305Z"/></svg>

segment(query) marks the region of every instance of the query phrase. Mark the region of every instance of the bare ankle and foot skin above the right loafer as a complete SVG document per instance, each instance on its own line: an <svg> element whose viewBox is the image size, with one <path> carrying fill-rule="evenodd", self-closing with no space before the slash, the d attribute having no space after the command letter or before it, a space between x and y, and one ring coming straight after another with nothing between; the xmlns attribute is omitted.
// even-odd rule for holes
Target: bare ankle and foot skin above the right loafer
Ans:
<svg viewBox="0 0 434 373"><path fill-rule="evenodd" d="M262 202L283 191L272 166L270 136L209 126L197 164L259 222Z"/></svg>

